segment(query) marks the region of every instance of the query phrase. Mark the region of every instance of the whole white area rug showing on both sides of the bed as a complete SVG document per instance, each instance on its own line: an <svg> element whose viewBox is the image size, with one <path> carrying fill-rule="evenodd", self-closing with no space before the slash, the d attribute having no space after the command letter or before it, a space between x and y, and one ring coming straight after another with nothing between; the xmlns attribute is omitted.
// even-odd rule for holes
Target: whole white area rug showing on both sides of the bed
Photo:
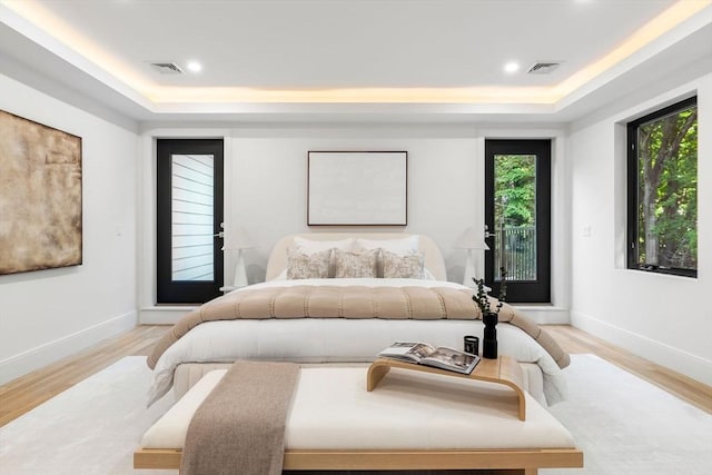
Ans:
<svg viewBox="0 0 712 475"><path fill-rule="evenodd" d="M542 475L711 475L712 416L592 355L572 355L570 399L551 412L583 469ZM172 475L134 471L132 453L169 398L146 409L150 372L127 357L0 428L2 475Z"/></svg>

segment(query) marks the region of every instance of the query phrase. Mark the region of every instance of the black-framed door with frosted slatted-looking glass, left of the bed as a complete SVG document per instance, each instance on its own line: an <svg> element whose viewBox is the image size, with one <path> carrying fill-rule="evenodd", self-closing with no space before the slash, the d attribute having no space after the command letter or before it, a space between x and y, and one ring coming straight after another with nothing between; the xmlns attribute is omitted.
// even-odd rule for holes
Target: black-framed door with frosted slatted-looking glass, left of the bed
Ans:
<svg viewBox="0 0 712 475"><path fill-rule="evenodd" d="M158 304L221 295L222 175L221 139L158 139Z"/></svg>

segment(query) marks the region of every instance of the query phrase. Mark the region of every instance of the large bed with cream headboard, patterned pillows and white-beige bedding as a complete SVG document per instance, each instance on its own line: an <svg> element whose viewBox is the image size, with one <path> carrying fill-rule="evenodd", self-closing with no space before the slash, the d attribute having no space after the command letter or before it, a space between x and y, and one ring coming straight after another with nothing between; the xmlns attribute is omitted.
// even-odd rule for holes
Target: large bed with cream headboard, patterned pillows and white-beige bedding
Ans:
<svg viewBox="0 0 712 475"><path fill-rule="evenodd" d="M295 297L297 290L301 294ZM357 290L360 296L408 293L417 296L437 291L436 304L439 301L443 308L459 305L461 314L466 305L474 305L472 289L446 280L443 257L427 236L383 232L287 236L270 254L265 283L205 304L176 324L157 344L148 358L154 369L149 404L171 387L180 398L207 372L240 359L363 363L372 362L379 350L396 340L425 340L455 348L462 348L464 335L479 336L482 340L478 310L467 310L467 315L453 318L436 316L441 310L438 306L428 307L428 300L412 308L411 297L406 297L393 305L396 309L393 318L378 313L390 305L380 300L369 300L368 305L376 308L374 311L368 307L362 315L363 307L356 306L357 309L348 314L349 293ZM340 299L334 313L316 309L314 303L318 297L332 293ZM257 294L266 294L271 300L253 305L253 296ZM453 295L459 299L457 303L451 300ZM274 318L275 308L281 308L283 300L289 300L290 306L285 304L289 310ZM250 305L267 307L268 315L249 317L251 314L243 309ZM299 306L309 307L309 315L294 314L294 307ZM407 311L398 313L402 307ZM428 314L431 309L433 315ZM342 315L344 311L348 315ZM406 313L413 315L404 318ZM236 317L237 314L240 315ZM544 405L565 398L562 369L568 364L568 356L514 307L505 305L503 319L510 323L497 326L500 353L520 362L524 388Z"/></svg>

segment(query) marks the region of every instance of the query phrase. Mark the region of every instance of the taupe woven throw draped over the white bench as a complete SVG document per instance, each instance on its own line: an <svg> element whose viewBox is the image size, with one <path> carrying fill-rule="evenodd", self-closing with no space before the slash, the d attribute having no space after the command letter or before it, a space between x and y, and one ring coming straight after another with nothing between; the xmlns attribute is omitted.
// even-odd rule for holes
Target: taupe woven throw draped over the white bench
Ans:
<svg viewBox="0 0 712 475"><path fill-rule="evenodd" d="M180 475L279 475L299 366L237 362L190 420Z"/></svg>

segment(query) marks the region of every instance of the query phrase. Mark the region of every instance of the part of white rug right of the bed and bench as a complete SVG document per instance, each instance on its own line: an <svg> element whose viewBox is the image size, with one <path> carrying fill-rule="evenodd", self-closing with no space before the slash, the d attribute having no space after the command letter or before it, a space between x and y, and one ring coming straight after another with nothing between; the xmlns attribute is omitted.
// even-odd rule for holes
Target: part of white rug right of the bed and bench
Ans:
<svg viewBox="0 0 712 475"><path fill-rule="evenodd" d="M712 475L712 415L594 355L572 355L566 402L550 407L584 468L540 475Z"/></svg>

